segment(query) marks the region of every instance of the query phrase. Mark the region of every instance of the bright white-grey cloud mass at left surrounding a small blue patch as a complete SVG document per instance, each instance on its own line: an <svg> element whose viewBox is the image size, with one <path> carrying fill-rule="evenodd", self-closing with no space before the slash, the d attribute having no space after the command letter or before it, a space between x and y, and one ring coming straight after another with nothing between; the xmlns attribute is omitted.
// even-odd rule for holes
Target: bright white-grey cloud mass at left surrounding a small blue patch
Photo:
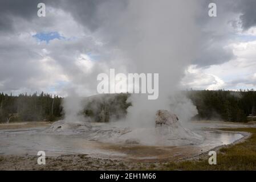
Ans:
<svg viewBox="0 0 256 182"><path fill-rule="evenodd" d="M6 27L7 33L0 34L1 91L44 91L65 95L64 86L83 85L83 94L88 94L90 86L95 86L90 83L95 82L96 73L90 77L86 73L97 71L97 65L103 63L100 59L94 63L87 53L100 52L102 59L108 56L99 41L62 9L48 7L44 19L38 18L36 11L32 11L33 15L26 14L17 11L16 6L9 7L9 4L15 3L7 3L13 13L7 13L12 17L13 24ZM37 10L36 6L34 9ZM44 36L56 32L64 39L40 41L35 35L43 34L41 32L46 34Z"/></svg>

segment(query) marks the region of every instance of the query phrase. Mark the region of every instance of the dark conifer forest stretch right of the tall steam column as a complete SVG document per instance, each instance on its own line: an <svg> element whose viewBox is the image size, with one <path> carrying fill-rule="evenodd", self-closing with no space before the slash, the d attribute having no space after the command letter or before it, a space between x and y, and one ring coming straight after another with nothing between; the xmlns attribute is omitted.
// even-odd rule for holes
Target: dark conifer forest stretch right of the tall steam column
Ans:
<svg viewBox="0 0 256 182"><path fill-rule="evenodd" d="M253 90L191 90L186 94L197 106L197 119L245 122L246 116L256 115L256 92Z"/></svg>

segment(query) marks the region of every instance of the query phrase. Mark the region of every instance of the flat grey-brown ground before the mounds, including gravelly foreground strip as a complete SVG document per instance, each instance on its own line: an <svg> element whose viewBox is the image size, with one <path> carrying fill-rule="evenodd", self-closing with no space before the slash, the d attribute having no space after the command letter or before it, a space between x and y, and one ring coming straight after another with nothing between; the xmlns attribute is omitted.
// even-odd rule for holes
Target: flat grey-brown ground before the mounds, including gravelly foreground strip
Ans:
<svg viewBox="0 0 256 182"><path fill-rule="evenodd" d="M170 160L194 158L212 148L241 140L246 135L210 130L209 128L255 126L255 123L245 125L243 123L194 122L194 131L198 132L200 130L201 134L208 135L204 134L208 138L205 143L198 146L161 147L100 143L86 141L81 137L77 138L77 136L63 137L59 135L52 135L53 138L52 136L48 138L48 141L51 142L40 142L40 138L44 140L46 138L36 132L50 126L50 124L47 122L0 124L0 169L128 170L155 168L160 163ZM28 146L35 147L35 150ZM40 148L40 146L44 147ZM45 148L48 150L46 150L46 154L49 154L46 158L46 165L38 165L36 151L45 150Z"/></svg>

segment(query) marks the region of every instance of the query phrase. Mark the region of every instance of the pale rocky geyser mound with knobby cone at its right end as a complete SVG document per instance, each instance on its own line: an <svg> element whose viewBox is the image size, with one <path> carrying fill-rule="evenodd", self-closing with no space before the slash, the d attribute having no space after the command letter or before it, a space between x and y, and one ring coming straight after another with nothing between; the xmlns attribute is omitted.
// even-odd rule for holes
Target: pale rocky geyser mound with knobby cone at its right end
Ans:
<svg viewBox="0 0 256 182"><path fill-rule="evenodd" d="M153 120L152 120L153 121ZM168 110L157 110L155 118L156 127L116 127L115 123L58 121L52 124L46 132L54 134L82 134L88 140L120 144L141 144L147 146L181 146L197 144L202 137L185 129L178 121L176 114Z"/></svg>

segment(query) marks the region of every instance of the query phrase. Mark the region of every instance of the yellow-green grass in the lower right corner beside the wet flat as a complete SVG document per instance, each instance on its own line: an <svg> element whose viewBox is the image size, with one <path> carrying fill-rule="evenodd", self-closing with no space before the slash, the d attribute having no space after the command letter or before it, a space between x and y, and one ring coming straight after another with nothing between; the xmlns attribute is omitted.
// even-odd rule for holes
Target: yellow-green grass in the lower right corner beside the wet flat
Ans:
<svg viewBox="0 0 256 182"><path fill-rule="evenodd" d="M209 157L183 162L162 164L160 170L256 170L256 128L222 129L245 131L251 137L245 142L221 148L217 153L217 164L210 165Z"/></svg>

